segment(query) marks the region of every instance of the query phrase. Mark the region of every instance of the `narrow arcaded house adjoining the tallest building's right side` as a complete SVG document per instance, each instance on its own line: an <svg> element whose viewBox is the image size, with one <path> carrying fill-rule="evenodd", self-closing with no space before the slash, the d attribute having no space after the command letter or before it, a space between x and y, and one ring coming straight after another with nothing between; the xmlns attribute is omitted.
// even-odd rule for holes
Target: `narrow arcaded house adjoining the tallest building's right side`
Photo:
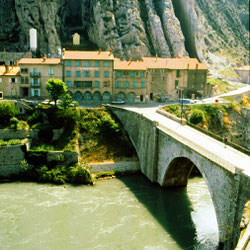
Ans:
<svg viewBox="0 0 250 250"><path fill-rule="evenodd" d="M118 101L145 101L147 68L141 61L114 61L113 96Z"/></svg>

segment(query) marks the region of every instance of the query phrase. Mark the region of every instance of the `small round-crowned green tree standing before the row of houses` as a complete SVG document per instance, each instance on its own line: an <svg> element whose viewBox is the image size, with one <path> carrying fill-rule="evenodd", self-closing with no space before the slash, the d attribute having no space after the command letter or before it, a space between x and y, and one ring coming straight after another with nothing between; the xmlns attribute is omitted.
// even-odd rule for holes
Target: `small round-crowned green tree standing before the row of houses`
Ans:
<svg viewBox="0 0 250 250"><path fill-rule="evenodd" d="M57 100L67 93L67 87L60 79L49 79L46 82L46 89L49 92L51 99L55 102L55 106Z"/></svg>

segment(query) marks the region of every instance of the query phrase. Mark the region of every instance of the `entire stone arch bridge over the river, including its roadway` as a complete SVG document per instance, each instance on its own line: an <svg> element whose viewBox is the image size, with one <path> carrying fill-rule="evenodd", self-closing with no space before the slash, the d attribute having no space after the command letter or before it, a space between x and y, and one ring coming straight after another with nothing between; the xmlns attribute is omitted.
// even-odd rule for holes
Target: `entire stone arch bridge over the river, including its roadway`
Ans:
<svg viewBox="0 0 250 250"><path fill-rule="evenodd" d="M250 157L156 112L107 105L132 141L141 171L160 186L185 186L195 165L214 204L220 249L234 249L250 198Z"/></svg>

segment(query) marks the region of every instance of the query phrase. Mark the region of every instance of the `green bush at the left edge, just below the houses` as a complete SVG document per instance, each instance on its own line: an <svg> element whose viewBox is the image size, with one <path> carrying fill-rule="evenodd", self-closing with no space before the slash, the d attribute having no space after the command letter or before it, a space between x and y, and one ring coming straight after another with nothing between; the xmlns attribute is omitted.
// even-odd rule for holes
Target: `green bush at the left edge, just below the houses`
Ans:
<svg viewBox="0 0 250 250"><path fill-rule="evenodd" d="M0 101L0 125L8 126L10 119L18 115L14 102Z"/></svg>

